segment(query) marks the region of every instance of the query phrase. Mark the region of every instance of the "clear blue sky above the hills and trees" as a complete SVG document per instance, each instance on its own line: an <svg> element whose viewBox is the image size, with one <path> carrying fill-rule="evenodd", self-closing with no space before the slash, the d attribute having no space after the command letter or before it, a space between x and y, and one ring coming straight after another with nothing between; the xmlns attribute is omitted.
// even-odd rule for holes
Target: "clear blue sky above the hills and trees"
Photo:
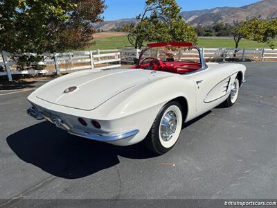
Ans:
<svg viewBox="0 0 277 208"><path fill-rule="evenodd" d="M221 6L245 6L258 0L177 0L182 11L202 10ZM132 18L143 11L145 0L105 0L108 8L104 12L105 20Z"/></svg>

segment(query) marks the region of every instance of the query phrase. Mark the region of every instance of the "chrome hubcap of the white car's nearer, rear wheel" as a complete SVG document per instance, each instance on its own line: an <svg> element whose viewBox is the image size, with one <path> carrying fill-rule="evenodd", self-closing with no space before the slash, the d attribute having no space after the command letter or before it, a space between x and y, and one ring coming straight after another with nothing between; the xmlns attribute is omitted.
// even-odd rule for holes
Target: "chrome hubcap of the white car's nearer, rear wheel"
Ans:
<svg viewBox="0 0 277 208"><path fill-rule="evenodd" d="M170 110L161 119L160 134L163 141L170 141L177 128L177 114Z"/></svg>

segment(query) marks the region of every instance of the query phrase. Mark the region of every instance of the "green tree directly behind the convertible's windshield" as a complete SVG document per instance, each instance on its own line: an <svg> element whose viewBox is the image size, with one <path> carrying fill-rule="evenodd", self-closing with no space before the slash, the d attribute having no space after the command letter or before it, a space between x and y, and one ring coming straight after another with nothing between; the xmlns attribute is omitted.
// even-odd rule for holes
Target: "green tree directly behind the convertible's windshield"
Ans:
<svg viewBox="0 0 277 208"><path fill-rule="evenodd" d="M181 8L175 0L146 0L138 24L125 26L129 43L139 49L143 42L190 41L197 42L195 28L179 15Z"/></svg>

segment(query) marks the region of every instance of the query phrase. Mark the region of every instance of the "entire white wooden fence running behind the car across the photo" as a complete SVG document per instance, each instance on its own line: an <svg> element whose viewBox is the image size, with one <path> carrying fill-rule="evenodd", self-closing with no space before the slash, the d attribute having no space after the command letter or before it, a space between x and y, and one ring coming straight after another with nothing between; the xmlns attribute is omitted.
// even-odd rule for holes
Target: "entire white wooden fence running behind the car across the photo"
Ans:
<svg viewBox="0 0 277 208"><path fill-rule="evenodd" d="M227 60L272 60L277 61L277 49L201 49L206 61L227 61ZM179 55L182 59L199 59L197 51L183 51ZM188 52L188 53L187 53ZM134 64L134 58L139 58L141 49L122 49L122 50L96 50L79 51L74 53L46 53L43 54L44 61L34 64L43 65L42 70L17 70L17 62L12 57L17 55L0 52L0 76L8 76L12 80L12 75L38 73L64 73L81 69L112 69L121 66L121 62ZM21 55L36 55L34 53L24 53ZM152 54L149 54L152 56ZM159 53L157 53L159 58Z"/></svg>

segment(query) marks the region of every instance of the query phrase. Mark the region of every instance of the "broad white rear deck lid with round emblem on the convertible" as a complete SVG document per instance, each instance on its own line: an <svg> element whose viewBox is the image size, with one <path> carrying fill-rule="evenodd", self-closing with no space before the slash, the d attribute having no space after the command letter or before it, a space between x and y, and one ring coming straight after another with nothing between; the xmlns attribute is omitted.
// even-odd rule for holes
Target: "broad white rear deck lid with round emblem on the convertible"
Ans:
<svg viewBox="0 0 277 208"><path fill-rule="evenodd" d="M71 73L40 87L36 96L57 105L93 110L109 98L154 77L151 71L141 69ZM64 93L69 87L74 90Z"/></svg>

